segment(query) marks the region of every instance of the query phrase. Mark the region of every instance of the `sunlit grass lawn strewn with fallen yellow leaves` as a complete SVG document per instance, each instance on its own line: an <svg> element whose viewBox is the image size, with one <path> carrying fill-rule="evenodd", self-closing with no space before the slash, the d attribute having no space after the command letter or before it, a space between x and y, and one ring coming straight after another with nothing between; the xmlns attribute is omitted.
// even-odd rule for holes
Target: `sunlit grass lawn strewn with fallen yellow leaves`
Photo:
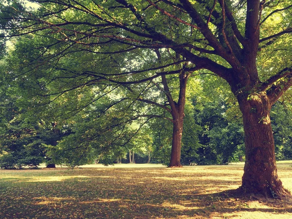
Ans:
<svg viewBox="0 0 292 219"><path fill-rule="evenodd" d="M292 161L278 175L292 191ZM228 197L243 163L165 168L101 164L84 168L0 169L0 219L290 219L292 205Z"/></svg>

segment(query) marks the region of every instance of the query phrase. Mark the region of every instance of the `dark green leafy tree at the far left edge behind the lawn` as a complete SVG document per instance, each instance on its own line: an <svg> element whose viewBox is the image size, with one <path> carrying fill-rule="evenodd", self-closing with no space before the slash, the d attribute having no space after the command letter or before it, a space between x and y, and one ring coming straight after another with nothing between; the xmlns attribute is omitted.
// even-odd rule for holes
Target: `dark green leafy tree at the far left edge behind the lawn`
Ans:
<svg viewBox="0 0 292 219"><path fill-rule="evenodd" d="M12 90L2 91L0 98L0 167L37 168L42 163L52 164L48 150L56 146L63 133L54 132L50 123L26 110L27 105Z"/></svg>

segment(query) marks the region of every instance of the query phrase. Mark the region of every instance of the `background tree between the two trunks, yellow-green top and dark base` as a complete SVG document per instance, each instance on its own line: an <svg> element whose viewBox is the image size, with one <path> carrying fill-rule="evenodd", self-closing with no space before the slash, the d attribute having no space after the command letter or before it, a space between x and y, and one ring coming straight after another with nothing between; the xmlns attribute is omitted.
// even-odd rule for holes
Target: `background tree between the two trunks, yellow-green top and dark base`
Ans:
<svg viewBox="0 0 292 219"><path fill-rule="evenodd" d="M200 77L199 95L192 99L199 134L198 164L228 164L237 161L244 144L241 113L228 84L212 74Z"/></svg>

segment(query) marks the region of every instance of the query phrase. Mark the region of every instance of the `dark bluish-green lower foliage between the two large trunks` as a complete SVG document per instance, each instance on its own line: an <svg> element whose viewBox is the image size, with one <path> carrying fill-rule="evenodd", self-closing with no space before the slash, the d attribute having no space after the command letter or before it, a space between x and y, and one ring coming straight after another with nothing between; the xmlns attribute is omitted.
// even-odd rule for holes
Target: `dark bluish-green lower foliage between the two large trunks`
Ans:
<svg viewBox="0 0 292 219"><path fill-rule="evenodd" d="M197 103L195 103L197 104ZM198 164L228 164L237 161L235 155L244 144L242 125L226 119L226 103L205 103L195 114L196 122L203 128L202 146L198 149Z"/></svg>

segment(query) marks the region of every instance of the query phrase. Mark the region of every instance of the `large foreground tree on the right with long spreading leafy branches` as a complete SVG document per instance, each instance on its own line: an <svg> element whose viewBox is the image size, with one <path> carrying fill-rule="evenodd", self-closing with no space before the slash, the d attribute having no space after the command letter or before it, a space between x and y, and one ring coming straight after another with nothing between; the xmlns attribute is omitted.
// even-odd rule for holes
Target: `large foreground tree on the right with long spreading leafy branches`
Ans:
<svg viewBox="0 0 292 219"><path fill-rule="evenodd" d="M292 85L292 0L31 2L40 5L38 10L25 10L20 1L7 10L9 5L5 6L1 26L14 32L11 36L54 38L54 43L38 48L43 60L45 55L52 60L73 51L138 57L160 49L187 61L183 72L205 69L225 79L243 117L246 163L240 189L267 197L288 194L277 176L270 110ZM271 66L267 54L281 59ZM127 85L178 73L164 71L169 65L160 61L145 69L145 65L132 62L118 71L108 66L112 67L110 74L104 70L86 73L92 81ZM140 75L135 82L134 74ZM183 80L184 75L180 74Z"/></svg>

